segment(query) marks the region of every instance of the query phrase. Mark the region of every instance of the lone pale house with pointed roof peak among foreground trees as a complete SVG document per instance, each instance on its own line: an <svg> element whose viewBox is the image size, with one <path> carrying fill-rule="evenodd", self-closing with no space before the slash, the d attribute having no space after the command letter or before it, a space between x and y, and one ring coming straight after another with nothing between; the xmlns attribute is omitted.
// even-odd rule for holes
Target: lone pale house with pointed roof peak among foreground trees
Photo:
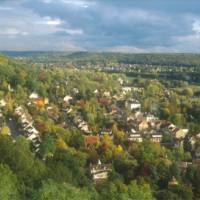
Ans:
<svg viewBox="0 0 200 200"><path fill-rule="evenodd" d="M108 173L111 171L111 166L102 164L101 161L98 161L97 165L90 166L90 174L94 182L102 182L108 178Z"/></svg>

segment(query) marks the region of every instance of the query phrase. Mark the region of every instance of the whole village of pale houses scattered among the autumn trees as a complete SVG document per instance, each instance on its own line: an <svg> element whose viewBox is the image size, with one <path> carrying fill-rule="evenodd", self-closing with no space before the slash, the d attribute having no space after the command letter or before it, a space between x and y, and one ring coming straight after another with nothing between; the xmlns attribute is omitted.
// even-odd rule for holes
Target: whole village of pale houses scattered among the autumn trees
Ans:
<svg viewBox="0 0 200 200"><path fill-rule="evenodd" d="M193 159L191 162L180 162L181 168L186 168L191 165L192 162L197 164L200 159L200 149L195 148L196 141L200 138L200 134L195 137L188 137L189 130L182 127L177 127L173 123L160 120L153 113L142 112L142 105L139 99L130 97L131 93L141 93L143 88L123 86L123 80L118 79L122 85L121 92L115 95L111 95L110 91L98 91L94 90L94 94L98 99L100 105L104 106L106 112L103 113L105 117L111 117L115 123L117 123L119 129L125 133L124 139L128 143L142 143L144 141L150 141L152 143L160 144L166 148L174 148L183 145L184 140L187 138L192 144ZM78 94L77 88L73 91ZM74 104L76 104L75 96L66 95L61 100L60 113L64 115L64 121L62 126L71 126L78 129L84 136L85 148L97 145L102 138L109 137L114 139L112 127L104 127L98 133L93 134L92 129L87 121L83 119L81 113L74 110ZM31 142L33 151L37 154L40 150L41 133L35 127L34 119L28 112L28 107L36 105L43 107L49 118L55 120L59 118L59 112L55 112L55 105L49 102L48 98L41 98L36 92L29 95L27 105L18 105L13 111L12 118L9 120L15 120L17 123L17 131L24 135L27 140ZM3 109L6 106L6 100L0 101L0 117L3 118ZM2 121L3 124L3 121ZM8 133L12 136L12 133ZM120 145L124 151L126 146ZM102 164L100 160L96 164L90 164L90 174L94 182L106 180L108 173L111 171L110 164Z"/></svg>

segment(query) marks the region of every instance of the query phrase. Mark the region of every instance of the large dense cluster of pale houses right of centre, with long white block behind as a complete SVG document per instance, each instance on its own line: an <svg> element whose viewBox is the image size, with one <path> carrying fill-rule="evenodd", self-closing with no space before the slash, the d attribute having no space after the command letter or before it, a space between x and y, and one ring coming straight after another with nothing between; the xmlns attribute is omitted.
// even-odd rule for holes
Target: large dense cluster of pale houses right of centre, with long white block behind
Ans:
<svg viewBox="0 0 200 200"><path fill-rule="evenodd" d="M120 79L121 81L121 79ZM115 95L112 100L115 107L110 109L110 115L125 132L130 142L142 142L146 139L162 143L165 136L172 138L172 143L165 142L166 145L180 145L189 130L178 128L166 120L160 120L150 113L141 112L141 103L134 98L126 98L129 92L142 92L142 88L122 87L122 93ZM129 114L125 110L130 111Z"/></svg>

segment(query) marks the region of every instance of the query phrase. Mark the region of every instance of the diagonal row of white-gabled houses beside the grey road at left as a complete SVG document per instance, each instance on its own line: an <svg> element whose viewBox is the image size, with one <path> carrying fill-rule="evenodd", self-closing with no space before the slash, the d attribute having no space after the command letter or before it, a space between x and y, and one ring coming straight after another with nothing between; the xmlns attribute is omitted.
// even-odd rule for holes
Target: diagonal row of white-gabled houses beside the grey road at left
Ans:
<svg viewBox="0 0 200 200"><path fill-rule="evenodd" d="M38 130L33 125L31 115L22 106L15 108L14 113L19 119L24 135L32 142L35 152L38 152L41 139Z"/></svg>

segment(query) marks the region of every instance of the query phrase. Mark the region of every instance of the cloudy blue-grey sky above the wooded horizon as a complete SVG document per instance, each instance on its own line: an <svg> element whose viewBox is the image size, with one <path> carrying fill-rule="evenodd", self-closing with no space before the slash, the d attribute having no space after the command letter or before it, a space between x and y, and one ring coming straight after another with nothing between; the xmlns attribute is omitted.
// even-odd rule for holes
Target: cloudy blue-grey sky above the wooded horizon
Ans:
<svg viewBox="0 0 200 200"><path fill-rule="evenodd" d="M200 53L200 0L0 0L0 50Z"/></svg>

